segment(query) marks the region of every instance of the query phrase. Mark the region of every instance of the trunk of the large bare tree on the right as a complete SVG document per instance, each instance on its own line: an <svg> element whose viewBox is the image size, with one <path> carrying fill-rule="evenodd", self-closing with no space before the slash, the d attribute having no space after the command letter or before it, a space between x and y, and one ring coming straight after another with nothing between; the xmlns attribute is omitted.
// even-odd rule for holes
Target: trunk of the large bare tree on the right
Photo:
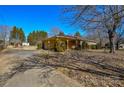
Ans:
<svg viewBox="0 0 124 93"><path fill-rule="evenodd" d="M110 53L115 53L115 36L114 32L110 32L109 34L109 42L110 42Z"/></svg>

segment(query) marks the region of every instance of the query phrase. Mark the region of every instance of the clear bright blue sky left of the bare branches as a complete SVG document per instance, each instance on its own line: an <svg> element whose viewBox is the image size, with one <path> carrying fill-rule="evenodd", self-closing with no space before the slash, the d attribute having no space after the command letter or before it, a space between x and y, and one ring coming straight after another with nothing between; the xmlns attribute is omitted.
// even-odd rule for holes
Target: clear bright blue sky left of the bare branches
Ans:
<svg viewBox="0 0 124 93"><path fill-rule="evenodd" d="M33 30L50 33L59 27L65 34L74 34L76 28L65 25L60 20L64 6L0 6L0 25L22 27L26 36Z"/></svg>

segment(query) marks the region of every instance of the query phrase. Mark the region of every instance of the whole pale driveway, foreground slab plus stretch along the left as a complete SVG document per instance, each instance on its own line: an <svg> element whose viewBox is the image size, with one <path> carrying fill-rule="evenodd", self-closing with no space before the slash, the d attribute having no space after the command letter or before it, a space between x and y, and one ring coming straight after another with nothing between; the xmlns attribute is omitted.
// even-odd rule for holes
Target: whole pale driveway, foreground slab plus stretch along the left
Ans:
<svg viewBox="0 0 124 93"><path fill-rule="evenodd" d="M31 57L34 54L48 51L36 50L36 48L8 48L0 56L0 75L11 72L11 68L18 62ZM20 61L22 60L22 61ZM0 85L4 87L78 87L77 81L72 80L60 71L52 67L32 68L24 72L17 72L12 77L4 79L0 76ZM3 77L5 78L5 77ZM3 83L3 84L2 84Z"/></svg>

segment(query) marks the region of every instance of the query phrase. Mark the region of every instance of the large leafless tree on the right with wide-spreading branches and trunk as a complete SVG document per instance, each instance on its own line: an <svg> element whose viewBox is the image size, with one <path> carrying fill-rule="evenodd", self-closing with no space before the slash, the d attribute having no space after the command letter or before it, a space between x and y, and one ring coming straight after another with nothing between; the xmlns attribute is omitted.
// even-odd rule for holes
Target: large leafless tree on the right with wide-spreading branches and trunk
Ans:
<svg viewBox="0 0 124 93"><path fill-rule="evenodd" d="M63 18L86 31L105 31L110 53L114 53L116 30L124 21L124 6L68 6L63 9Z"/></svg>

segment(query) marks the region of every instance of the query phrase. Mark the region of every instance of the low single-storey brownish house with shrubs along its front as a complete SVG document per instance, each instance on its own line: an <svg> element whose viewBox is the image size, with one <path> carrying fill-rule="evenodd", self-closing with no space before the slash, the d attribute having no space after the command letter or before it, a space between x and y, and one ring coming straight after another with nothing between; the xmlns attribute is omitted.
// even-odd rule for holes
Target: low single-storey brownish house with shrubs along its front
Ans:
<svg viewBox="0 0 124 93"><path fill-rule="evenodd" d="M96 48L96 42L86 40L77 36L54 36L43 40L42 48L48 50L62 51L68 49Z"/></svg>

